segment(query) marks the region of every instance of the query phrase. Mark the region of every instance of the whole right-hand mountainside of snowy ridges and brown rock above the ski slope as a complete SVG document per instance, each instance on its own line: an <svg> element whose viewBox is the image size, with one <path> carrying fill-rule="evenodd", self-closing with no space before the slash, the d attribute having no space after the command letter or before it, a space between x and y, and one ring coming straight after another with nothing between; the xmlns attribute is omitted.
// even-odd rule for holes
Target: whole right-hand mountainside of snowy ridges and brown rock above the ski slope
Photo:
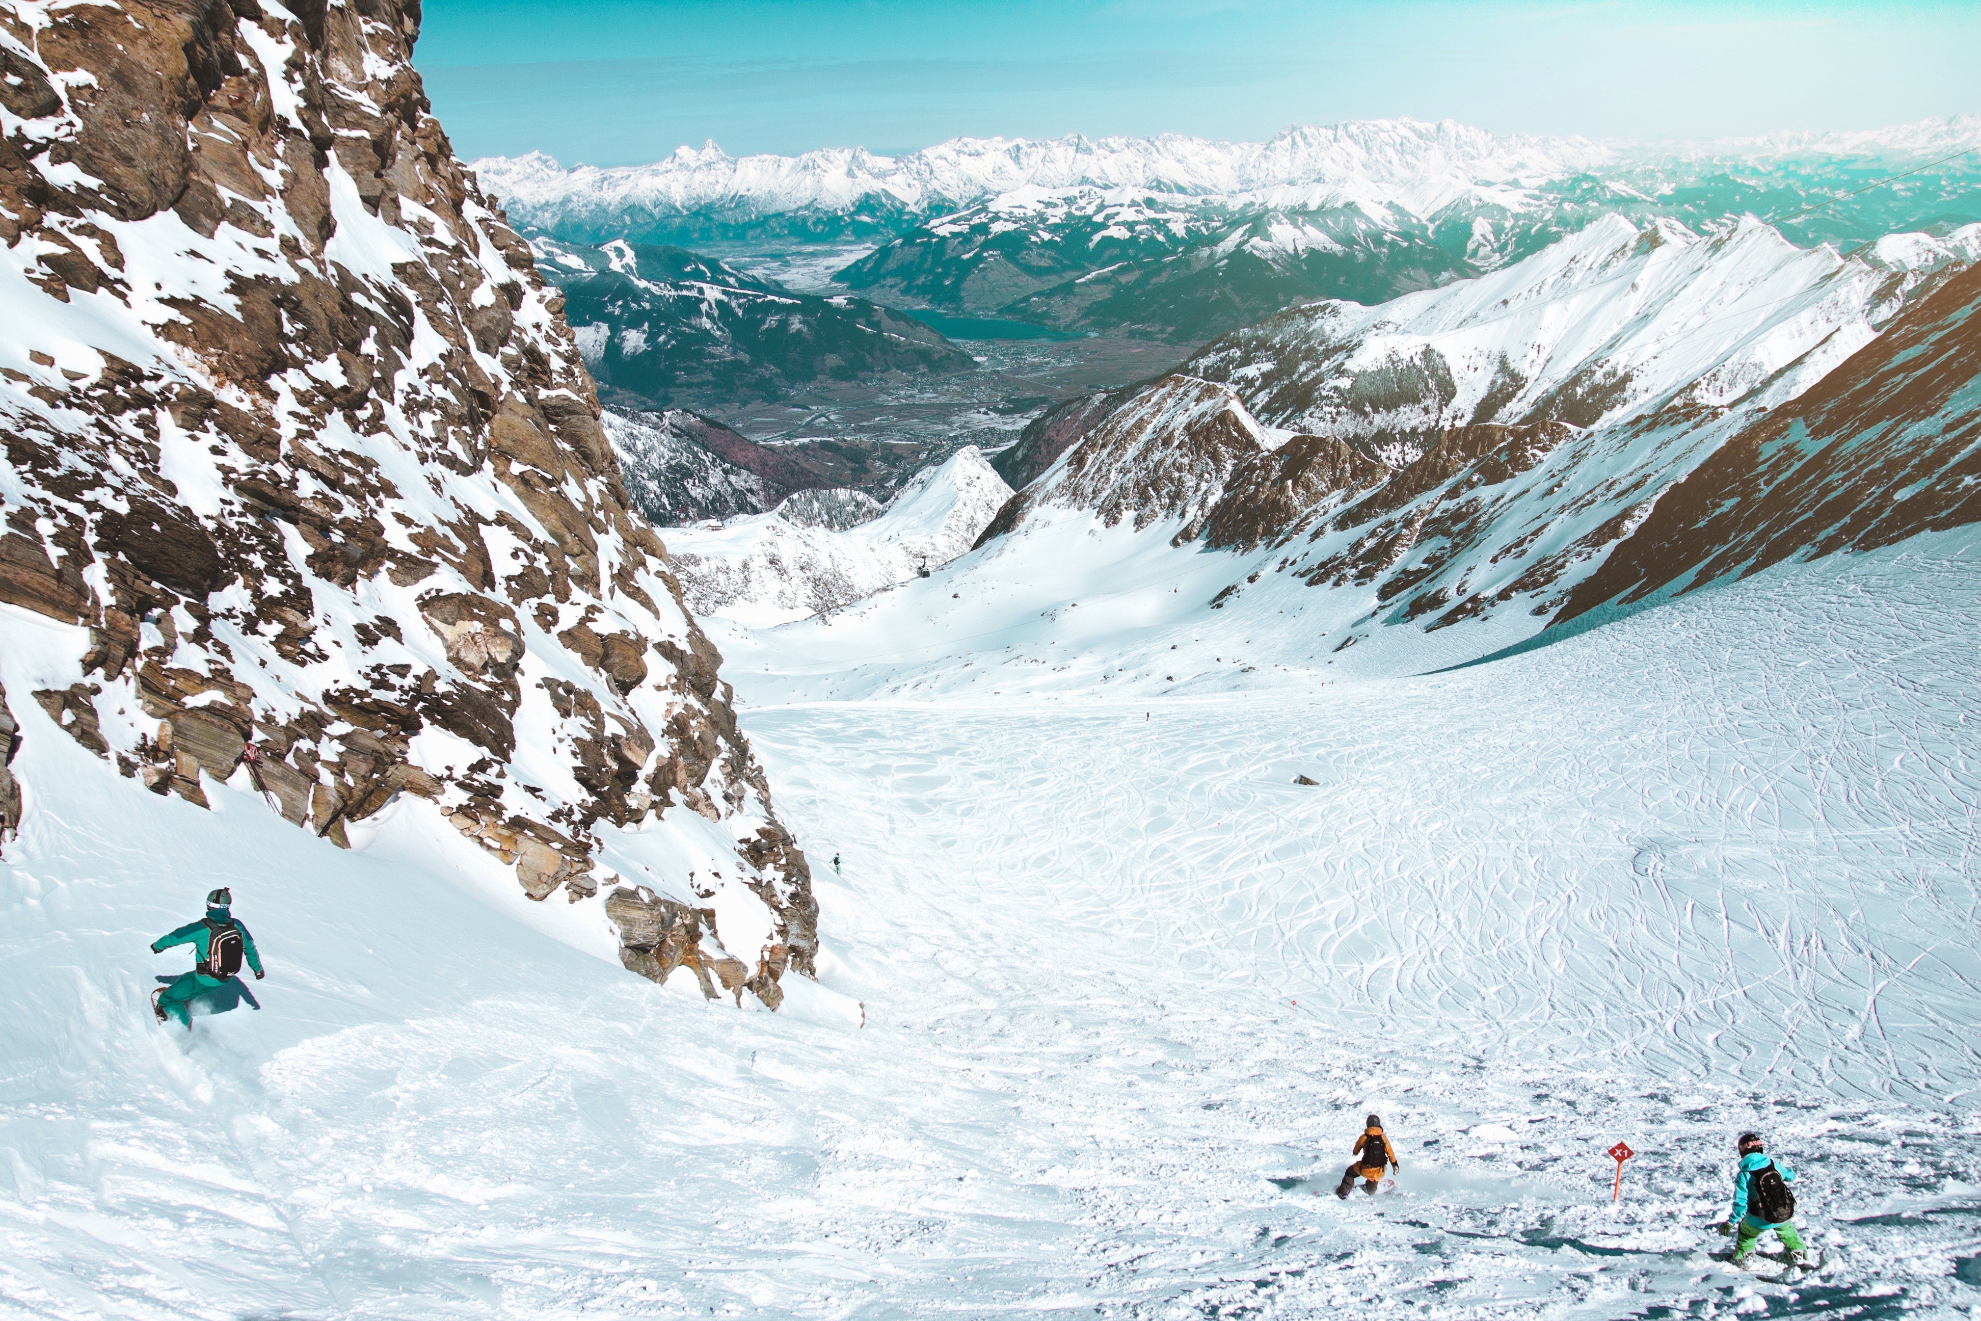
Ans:
<svg viewBox="0 0 1981 1321"><path fill-rule="evenodd" d="M1949 527L1971 503L1941 473L1965 461L1971 374L1943 345L1973 337L1957 289L1981 279L1977 257L1981 226L1844 257L1753 222L1696 236L1609 220L1446 289L1294 309L1181 374L1040 418L1000 456L1038 475L945 582L981 596L1024 580L1016 600L1036 604L1064 580L1092 608L1095 576L1159 572L1157 547L1195 543L1228 553L1222 570L1197 555L1173 572L1222 574L1210 598L1230 628L1323 663L1397 667L1474 660L1620 592L1737 572L1743 557L1702 523L1729 547L1781 525L1755 562ZM1876 418L1876 444L1830 422L1842 448L1797 465L1779 440L1743 440L1813 426L1789 422L1799 400L1840 382L1876 404L1823 416ZM1735 459L1755 444L1761 473ZM1718 503L1682 493L1710 473ZM1686 531L1660 533L1678 507L1694 509ZM1858 513L1821 513L1834 507ZM1712 570L1620 568L1656 539ZM1607 557L1618 568L1599 572Z"/></svg>

